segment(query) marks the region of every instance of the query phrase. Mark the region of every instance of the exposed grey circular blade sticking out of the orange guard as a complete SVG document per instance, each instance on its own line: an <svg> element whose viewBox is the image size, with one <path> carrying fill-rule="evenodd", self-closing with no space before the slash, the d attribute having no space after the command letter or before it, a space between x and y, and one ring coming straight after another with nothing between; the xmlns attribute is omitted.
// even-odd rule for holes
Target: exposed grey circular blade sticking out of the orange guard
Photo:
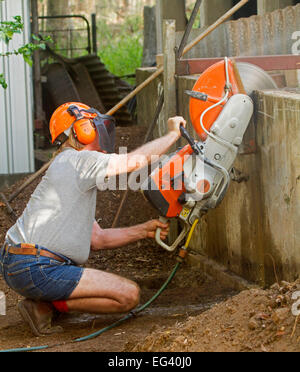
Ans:
<svg viewBox="0 0 300 372"><path fill-rule="evenodd" d="M246 93L251 96L255 90L278 89L272 77L263 69L246 62L236 64Z"/></svg>

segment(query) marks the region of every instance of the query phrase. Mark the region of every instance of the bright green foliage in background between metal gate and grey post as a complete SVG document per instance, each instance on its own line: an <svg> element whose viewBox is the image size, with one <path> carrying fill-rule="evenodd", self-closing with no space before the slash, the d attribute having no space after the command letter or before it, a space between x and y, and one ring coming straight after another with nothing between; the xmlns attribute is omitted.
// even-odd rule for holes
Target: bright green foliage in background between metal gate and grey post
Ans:
<svg viewBox="0 0 300 372"><path fill-rule="evenodd" d="M116 76L135 74L143 57L142 17L128 17L119 27L102 23L98 30L102 43L99 56L108 70Z"/></svg>

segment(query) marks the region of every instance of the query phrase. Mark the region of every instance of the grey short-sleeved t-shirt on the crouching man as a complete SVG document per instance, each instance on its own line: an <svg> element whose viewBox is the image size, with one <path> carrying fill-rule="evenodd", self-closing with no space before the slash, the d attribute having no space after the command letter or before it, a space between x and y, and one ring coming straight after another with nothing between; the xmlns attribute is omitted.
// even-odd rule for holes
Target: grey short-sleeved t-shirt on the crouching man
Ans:
<svg viewBox="0 0 300 372"><path fill-rule="evenodd" d="M64 149L51 164L16 224L12 244L38 244L75 263L90 254L97 186L104 181L110 155Z"/></svg>

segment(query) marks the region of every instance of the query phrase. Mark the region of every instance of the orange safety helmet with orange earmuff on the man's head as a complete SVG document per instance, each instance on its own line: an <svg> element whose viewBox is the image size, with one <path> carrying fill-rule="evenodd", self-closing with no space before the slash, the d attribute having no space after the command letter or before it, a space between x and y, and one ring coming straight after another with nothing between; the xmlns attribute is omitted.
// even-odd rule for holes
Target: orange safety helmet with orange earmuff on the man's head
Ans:
<svg viewBox="0 0 300 372"><path fill-rule="evenodd" d="M80 119L72 114L70 111L72 107L77 108L78 113L81 114ZM88 110L90 110L89 106L79 102L68 102L58 107L50 120L52 143L69 129L73 130L75 137L83 145L92 143L96 138L96 129L91 119L97 115L88 113Z"/></svg>

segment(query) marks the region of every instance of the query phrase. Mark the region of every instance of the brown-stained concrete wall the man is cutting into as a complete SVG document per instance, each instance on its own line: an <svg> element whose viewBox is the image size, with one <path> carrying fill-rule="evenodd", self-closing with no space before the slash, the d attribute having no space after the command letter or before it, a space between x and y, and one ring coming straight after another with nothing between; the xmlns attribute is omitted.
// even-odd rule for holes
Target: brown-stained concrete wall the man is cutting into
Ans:
<svg viewBox="0 0 300 372"><path fill-rule="evenodd" d="M138 82L151 71L139 70ZM197 77L180 77L179 114L189 119ZM139 124L151 121L161 79L138 96ZM149 100L151 97L151 100ZM192 249L243 278L270 284L300 274L300 94L259 92L256 96L257 153L239 155L235 167L248 182L232 182L219 208L202 220ZM155 137L165 131L159 121ZM190 122L188 130L193 131Z"/></svg>

